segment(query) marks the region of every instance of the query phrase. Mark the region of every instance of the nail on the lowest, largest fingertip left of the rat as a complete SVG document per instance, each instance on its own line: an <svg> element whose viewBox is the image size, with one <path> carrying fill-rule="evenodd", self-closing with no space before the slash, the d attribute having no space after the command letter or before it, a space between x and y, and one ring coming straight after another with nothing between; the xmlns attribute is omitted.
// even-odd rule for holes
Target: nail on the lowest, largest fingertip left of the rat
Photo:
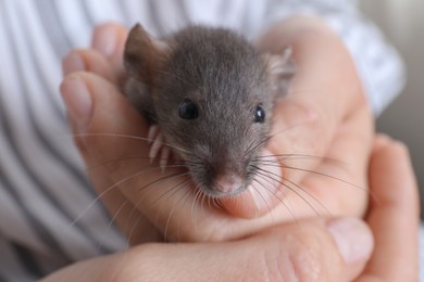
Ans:
<svg viewBox="0 0 424 282"><path fill-rule="evenodd" d="M87 85L78 76L70 76L63 81L61 93L71 118L77 125L77 130L84 132L92 112L92 101Z"/></svg>

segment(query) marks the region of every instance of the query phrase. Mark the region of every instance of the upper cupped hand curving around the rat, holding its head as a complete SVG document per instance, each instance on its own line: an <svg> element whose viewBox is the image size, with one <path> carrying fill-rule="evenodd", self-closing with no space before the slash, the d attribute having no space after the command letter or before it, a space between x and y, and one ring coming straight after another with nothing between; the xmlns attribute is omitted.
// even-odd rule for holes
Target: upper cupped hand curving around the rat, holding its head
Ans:
<svg viewBox="0 0 424 282"><path fill-rule="evenodd" d="M66 57L66 74L75 70L88 73L76 73L65 79L62 85L65 101L72 104L71 100L75 98L73 95L78 88L74 82L83 84L80 93L85 91L87 94L88 87L91 100L83 101L84 105L70 107L71 116L74 117L76 143L91 179L112 215L116 216L119 222L122 221L120 218L132 222L125 225L127 234L132 233L133 238L138 239L146 238L146 230L152 230L153 226L153 230L158 230L160 235L165 234L167 240L217 241L245 236L292 218L362 215L367 192L358 187L366 188L365 170L372 123L347 51L333 33L325 27L319 30L315 27L315 23L304 27L303 22L296 22L288 28L290 31L304 28L308 31L310 28L311 33L303 34L312 36L295 37L291 41L298 67L294 81L295 93L277 105L274 132L284 133L276 133L269 144L270 151L276 155L294 154L295 157L287 157L282 164L283 175L292 183L299 184L288 182L291 190L282 185L278 191L270 193L266 201L266 192L261 195L244 193L236 200L227 200L223 205L227 211L236 215L233 217L208 203L197 202L191 187L173 190L182 180L167 179L152 183L163 176L146 159L148 145L138 138L130 138L146 137L147 124L115 87L123 75L122 50L126 38L124 28L109 26L116 33L111 37L115 39L111 40L114 48L104 50L108 49L104 46L110 44L99 43L104 41L99 38L109 36L101 36L101 30L107 29L103 27L95 34L93 49L74 51ZM311 42L321 44L314 44L313 50L310 50ZM334 49L331 52L328 44ZM323 57L322 61L310 57L311 51L316 57ZM337 60L333 60L336 51L340 54ZM83 57L85 64L73 65L73 55ZM328 75L323 76L323 73ZM328 78L333 75L337 75L337 79ZM345 81L341 77L347 82L340 82ZM298 85L303 88L297 87ZM91 104L87 105L87 102ZM82 110L85 112L82 113ZM82 115L85 117L80 118ZM323 157L311 157L305 162L297 154ZM135 159L136 157L138 158ZM347 165L340 165L341 162ZM317 174L305 175L304 171L308 170ZM174 171L170 169L166 172ZM152 184L140 189L148 183ZM255 218L242 218L252 216ZM134 229L134 222L139 228ZM157 235L158 233L152 232L148 238Z"/></svg>

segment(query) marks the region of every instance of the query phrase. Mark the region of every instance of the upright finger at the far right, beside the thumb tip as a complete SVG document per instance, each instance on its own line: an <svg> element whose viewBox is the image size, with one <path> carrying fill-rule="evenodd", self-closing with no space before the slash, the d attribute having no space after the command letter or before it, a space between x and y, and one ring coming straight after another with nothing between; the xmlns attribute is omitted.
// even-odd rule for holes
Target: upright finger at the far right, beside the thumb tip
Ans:
<svg viewBox="0 0 424 282"><path fill-rule="evenodd" d="M407 148L378 137L370 181L374 198L367 222L376 247L363 279L417 281L419 195Z"/></svg>

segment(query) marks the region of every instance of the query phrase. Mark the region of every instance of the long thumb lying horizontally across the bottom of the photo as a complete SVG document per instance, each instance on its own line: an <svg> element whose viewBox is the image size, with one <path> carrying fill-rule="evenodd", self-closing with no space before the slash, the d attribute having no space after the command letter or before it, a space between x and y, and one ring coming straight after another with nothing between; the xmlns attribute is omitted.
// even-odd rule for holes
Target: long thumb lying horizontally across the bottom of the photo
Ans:
<svg viewBox="0 0 424 282"><path fill-rule="evenodd" d="M351 281L371 251L371 232L359 220L305 221L236 242L145 245L121 256L119 269L108 275L125 281Z"/></svg>

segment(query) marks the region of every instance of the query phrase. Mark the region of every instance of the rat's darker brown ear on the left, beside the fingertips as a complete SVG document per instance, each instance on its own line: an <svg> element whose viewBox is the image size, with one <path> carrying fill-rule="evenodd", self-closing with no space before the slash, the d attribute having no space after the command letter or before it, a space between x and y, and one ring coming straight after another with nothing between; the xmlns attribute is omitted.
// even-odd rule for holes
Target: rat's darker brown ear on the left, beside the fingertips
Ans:
<svg viewBox="0 0 424 282"><path fill-rule="evenodd" d="M169 46L150 36L140 24L128 34L124 51L124 65L128 74L141 82L151 85L154 70L160 68L169 52Z"/></svg>

